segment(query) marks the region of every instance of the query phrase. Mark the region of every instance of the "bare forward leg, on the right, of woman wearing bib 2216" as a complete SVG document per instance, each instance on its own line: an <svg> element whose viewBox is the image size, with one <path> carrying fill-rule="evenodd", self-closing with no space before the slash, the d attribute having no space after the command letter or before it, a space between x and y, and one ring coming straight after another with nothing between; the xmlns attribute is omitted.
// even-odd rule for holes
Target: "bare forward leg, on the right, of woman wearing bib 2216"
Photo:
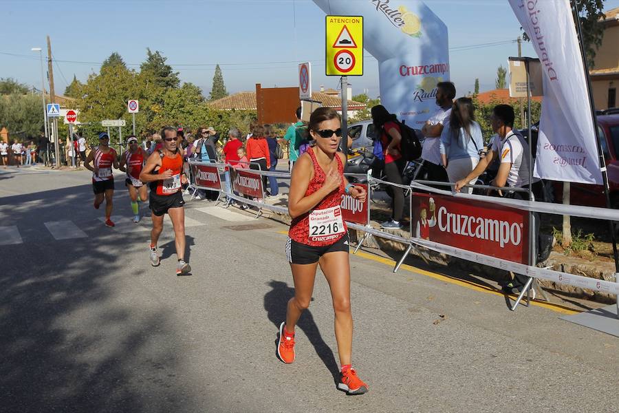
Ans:
<svg viewBox="0 0 619 413"><path fill-rule="evenodd" d="M351 363L353 320L350 309L350 263L348 253L335 251L326 253L319 261L321 270L331 288L335 313L335 333L338 342L340 363Z"/></svg>

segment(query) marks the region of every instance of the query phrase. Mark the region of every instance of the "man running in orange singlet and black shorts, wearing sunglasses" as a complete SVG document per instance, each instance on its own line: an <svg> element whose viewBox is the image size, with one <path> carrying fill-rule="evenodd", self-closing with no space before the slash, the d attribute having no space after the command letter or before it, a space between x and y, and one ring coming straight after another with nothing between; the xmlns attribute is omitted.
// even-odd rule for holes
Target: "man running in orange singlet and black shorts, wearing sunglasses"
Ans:
<svg viewBox="0 0 619 413"><path fill-rule="evenodd" d="M149 204L153 219L151 231L151 265L158 266L160 257L157 242L163 230L164 215L168 213L174 227L176 255L178 264L176 275L190 273L191 267L185 262L185 210L181 187L188 182L183 171L184 158L176 129L165 127L162 130L163 148L153 152L140 173L142 182L150 182Z"/></svg>

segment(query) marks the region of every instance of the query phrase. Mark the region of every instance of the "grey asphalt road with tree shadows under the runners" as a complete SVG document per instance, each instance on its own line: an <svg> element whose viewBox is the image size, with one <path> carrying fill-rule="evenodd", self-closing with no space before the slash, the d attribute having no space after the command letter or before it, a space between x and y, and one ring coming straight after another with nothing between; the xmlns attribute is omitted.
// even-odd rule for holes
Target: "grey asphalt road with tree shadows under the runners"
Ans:
<svg viewBox="0 0 619 413"><path fill-rule="evenodd" d="M293 293L285 226L188 202L193 274L176 277L171 225L153 268L149 221L131 223L116 189L111 229L86 171L0 170L0 411L618 411L616 338L561 308L512 313L412 258L393 274L376 251L351 255L353 359L370 392L345 396L323 277L296 361L275 357Z"/></svg>

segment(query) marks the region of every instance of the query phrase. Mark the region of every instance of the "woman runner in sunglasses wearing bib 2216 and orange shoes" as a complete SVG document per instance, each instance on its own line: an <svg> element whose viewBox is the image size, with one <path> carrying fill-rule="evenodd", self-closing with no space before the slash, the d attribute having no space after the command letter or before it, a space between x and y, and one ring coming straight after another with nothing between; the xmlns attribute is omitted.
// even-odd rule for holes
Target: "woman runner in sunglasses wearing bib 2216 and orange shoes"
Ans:
<svg viewBox="0 0 619 413"><path fill-rule="evenodd" d="M288 301L286 320L279 326L277 354L284 363L294 361L294 327L312 299L318 264L329 282L335 313L335 333L341 370L338 390L347 394L367 392L351 367L353 321L350 310L349 237L340 203L343 195L365 202L362 187L344 176L345 157L338 152L342 129L340 116L320 107L310 117L310 134L316 145L294 163L288 213L292 217L286 253L294 297Z"/></svg>

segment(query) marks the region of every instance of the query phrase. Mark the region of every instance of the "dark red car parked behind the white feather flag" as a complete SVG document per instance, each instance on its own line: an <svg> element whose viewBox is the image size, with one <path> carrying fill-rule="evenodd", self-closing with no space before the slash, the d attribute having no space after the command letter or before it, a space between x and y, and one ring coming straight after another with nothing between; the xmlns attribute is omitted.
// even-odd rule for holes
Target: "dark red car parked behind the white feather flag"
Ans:
<svg viewBox="0 0 619 413"><path fill-rule="evenodd" d="M611 205L619 209L619 114L598 116L598 138L600 139L610 188ZM563 199L563 184L554 185L555 199ZM602 185L576 184L570 186L570 204L587 207L606 207L606 196Z"/></svg>

